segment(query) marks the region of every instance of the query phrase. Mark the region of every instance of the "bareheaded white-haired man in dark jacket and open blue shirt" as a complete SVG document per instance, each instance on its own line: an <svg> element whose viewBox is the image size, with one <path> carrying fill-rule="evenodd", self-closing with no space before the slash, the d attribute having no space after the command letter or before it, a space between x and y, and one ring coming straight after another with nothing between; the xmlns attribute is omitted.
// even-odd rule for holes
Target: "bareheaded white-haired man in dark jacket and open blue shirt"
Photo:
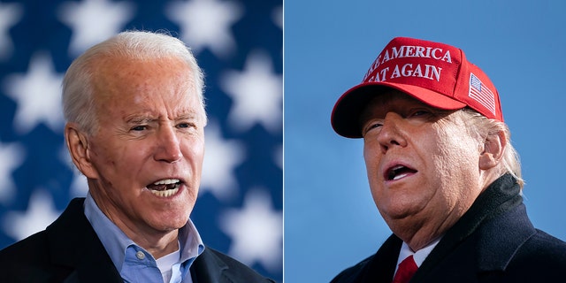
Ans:
<svg viewBox="0 0 566 283"><path fill-rule="evenodd" d="M203 73L180 40L124 32L73 61L65 141L88 195L0 251L2 282L270 282L205 247L189 216L207 117Z"/></svg>

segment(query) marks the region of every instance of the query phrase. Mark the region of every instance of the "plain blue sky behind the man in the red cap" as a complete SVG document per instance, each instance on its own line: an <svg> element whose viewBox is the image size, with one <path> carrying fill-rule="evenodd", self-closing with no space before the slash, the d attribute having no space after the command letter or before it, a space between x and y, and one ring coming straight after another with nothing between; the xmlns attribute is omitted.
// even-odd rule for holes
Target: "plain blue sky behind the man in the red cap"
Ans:
<svg viewBox="0 0 566 283"><path fill-rule="evenodd" d="M527 211L566 240L566 2L285 1L285 281L327 282L391 233L337 98L395 36L445 42L493 80L519 151Z"/></svg>

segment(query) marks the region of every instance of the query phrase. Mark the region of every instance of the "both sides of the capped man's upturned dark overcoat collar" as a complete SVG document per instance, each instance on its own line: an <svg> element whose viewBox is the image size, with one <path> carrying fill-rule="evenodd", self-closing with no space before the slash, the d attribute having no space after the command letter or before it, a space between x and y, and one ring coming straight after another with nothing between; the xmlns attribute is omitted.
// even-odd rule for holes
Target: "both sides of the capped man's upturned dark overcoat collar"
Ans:
<svg viewBox="0 0 566 283"><path fill-rule="evenodd" d="M444 282L458 278L456 273L484 273L489 281L535 233L515 178L503 175L447 231L411 282ZM364 266L359 281L391 282L401 246L402 240L391 235L374 256L358 264Z"/></svg>

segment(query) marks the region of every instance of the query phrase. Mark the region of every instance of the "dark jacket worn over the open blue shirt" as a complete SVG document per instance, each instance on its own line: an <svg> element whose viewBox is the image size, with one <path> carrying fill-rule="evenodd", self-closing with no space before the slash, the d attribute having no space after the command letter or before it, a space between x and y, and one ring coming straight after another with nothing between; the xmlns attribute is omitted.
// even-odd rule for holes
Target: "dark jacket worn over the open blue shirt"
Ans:
<svg viewBox="0 0 566 283"><path fill-rule="evenodd" d="M0 251L0 282L123 282L83 210L74 199L55 222ZM191 266L195 283L272 282L244 264L206 247Z"/></svg>

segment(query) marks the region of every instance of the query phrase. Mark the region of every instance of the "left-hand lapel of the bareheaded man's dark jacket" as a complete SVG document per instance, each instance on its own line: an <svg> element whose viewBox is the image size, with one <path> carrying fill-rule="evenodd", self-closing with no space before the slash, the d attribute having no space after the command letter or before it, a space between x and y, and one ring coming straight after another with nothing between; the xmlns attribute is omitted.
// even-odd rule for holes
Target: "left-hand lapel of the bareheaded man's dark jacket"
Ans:
<svg viewBox="0 0 566 283"><path fill-rule="evenodd" d="M73 199L47 227L51 261L74 271L65 282L123 282L83 210L84 199ZM69 228L71 227L71 228Z"/></svg>

